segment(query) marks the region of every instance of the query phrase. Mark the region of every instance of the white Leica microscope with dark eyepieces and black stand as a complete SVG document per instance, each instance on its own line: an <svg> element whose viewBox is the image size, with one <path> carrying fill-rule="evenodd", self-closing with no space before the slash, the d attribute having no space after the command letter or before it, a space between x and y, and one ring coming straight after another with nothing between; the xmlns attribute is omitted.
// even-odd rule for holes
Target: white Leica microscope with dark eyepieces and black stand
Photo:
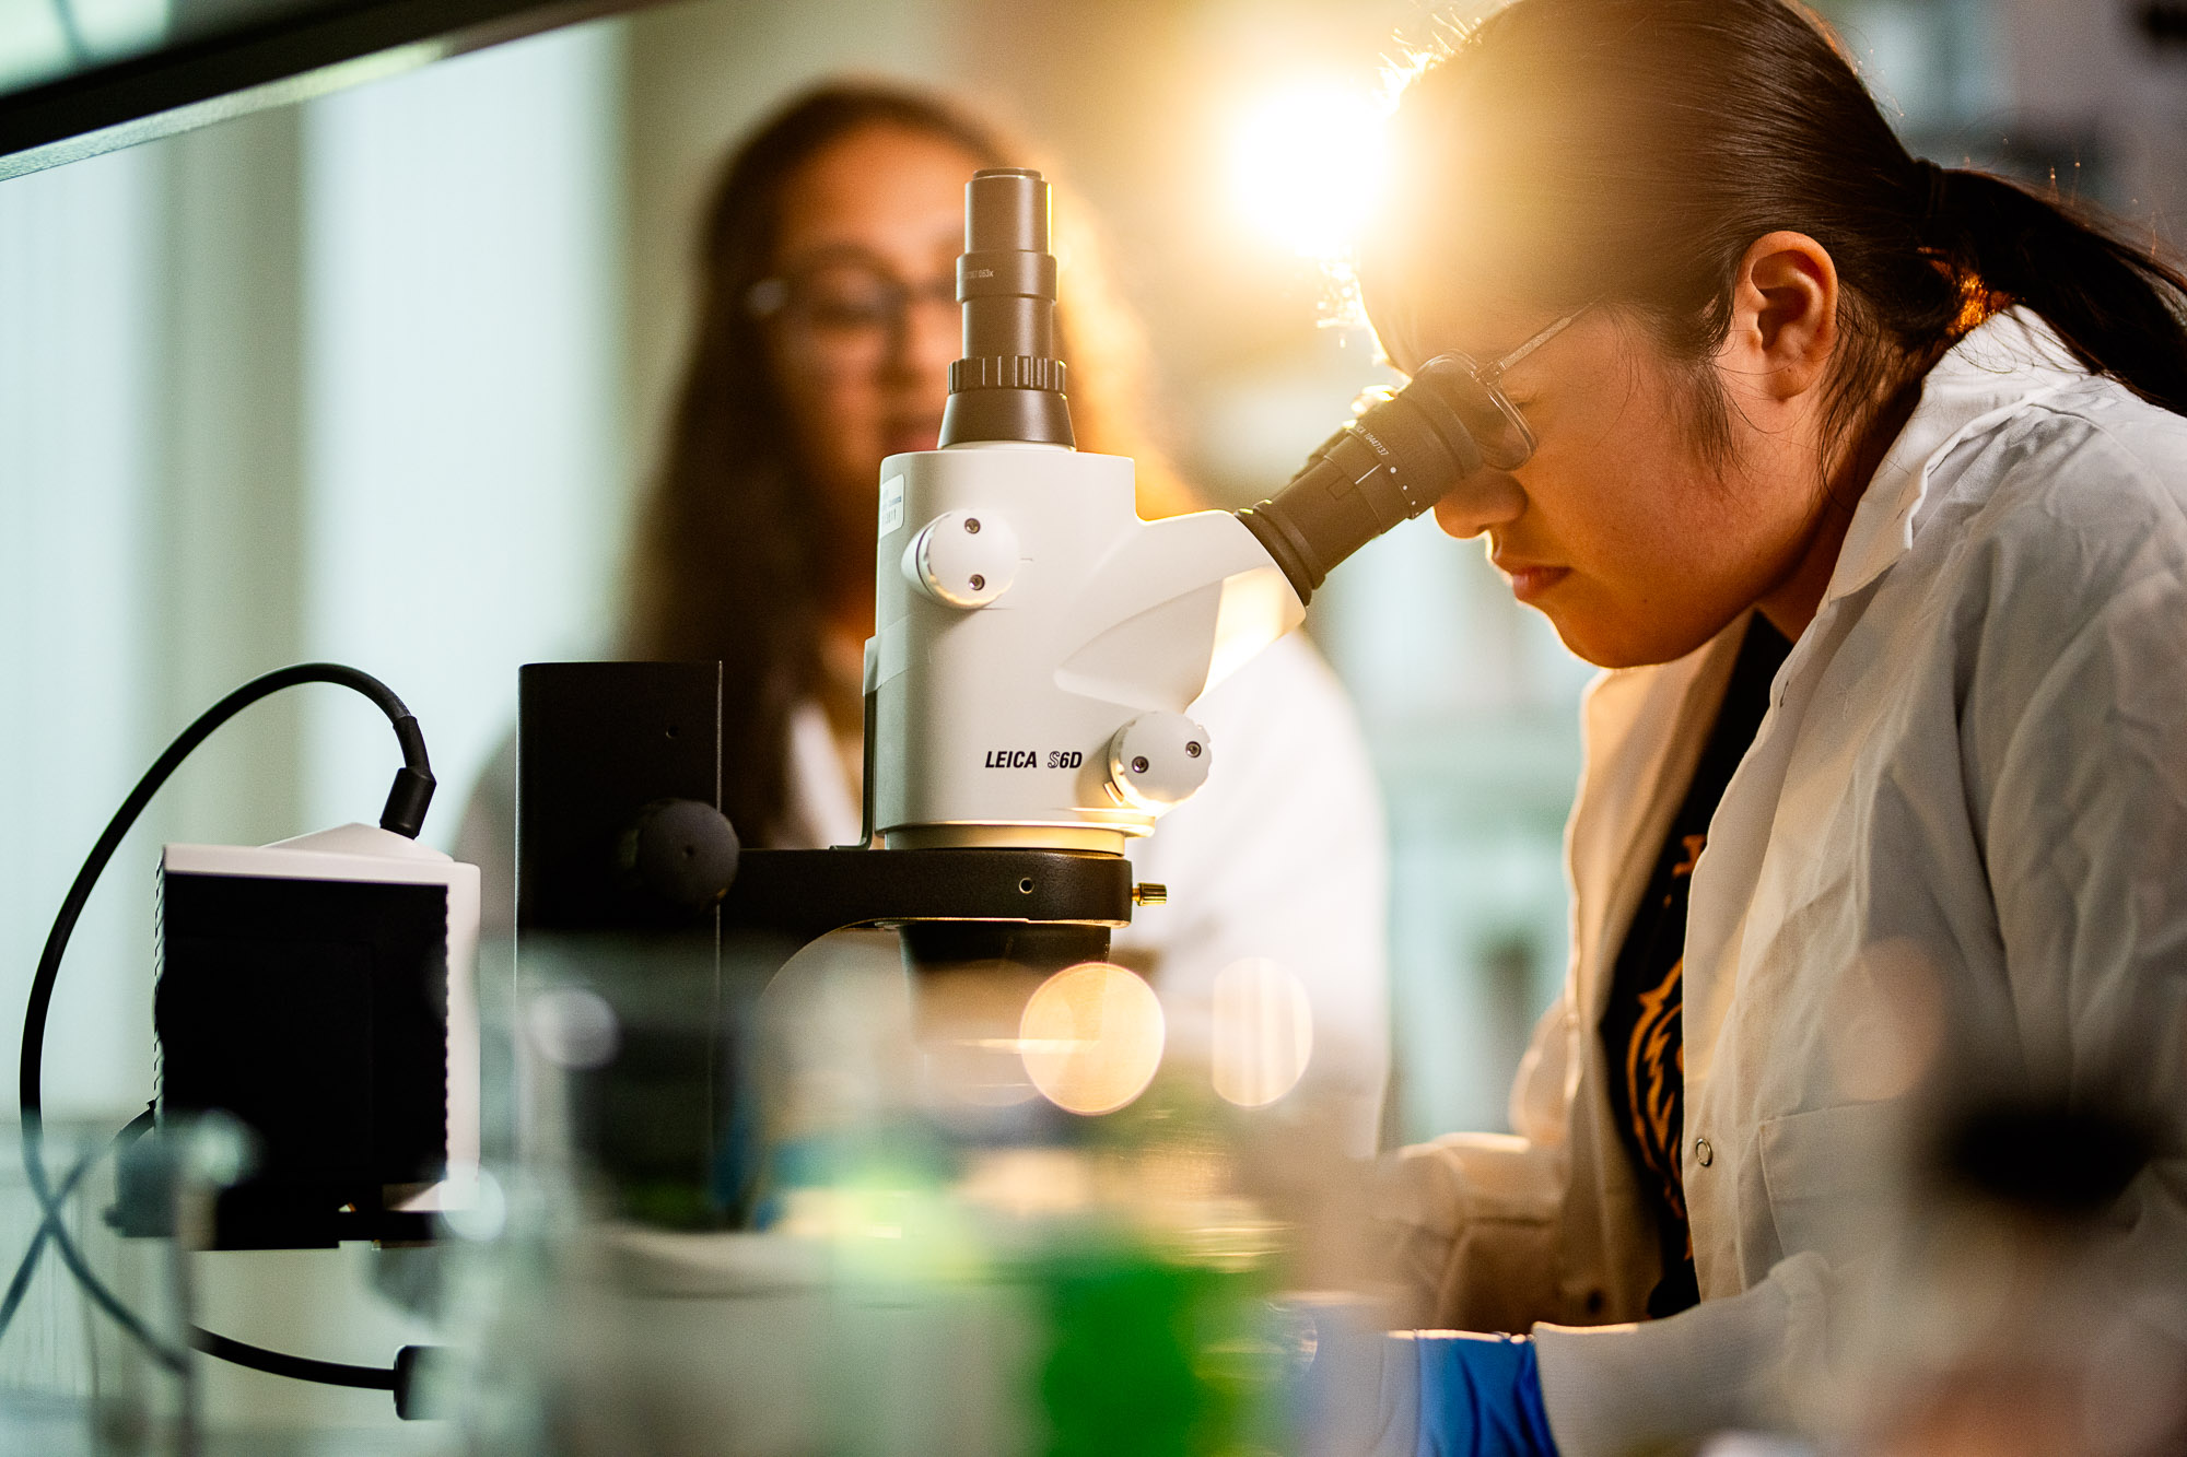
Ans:
<svg viewBox="0 0 2187 1457"><path fill-rule="evenodd" d="M717 665L521 676L518 974L639 967L619 980L636 1011L623 1054L577 1079L571 1116L610 1181L678 1223L750 1208L746 1011L790 956L884 928L914 976L1102 960L1133 906L1166 895L1133 882L1131 844L1214 768L1192 702L1299 626L1330 569L1483 464L1463 361L1437 359L1273 499L1142 521L1133 464L1072 435L1039 173L973 175L958 300L940 448L879 473L857 844L739 842L720 814L735 766Z"/></svg>

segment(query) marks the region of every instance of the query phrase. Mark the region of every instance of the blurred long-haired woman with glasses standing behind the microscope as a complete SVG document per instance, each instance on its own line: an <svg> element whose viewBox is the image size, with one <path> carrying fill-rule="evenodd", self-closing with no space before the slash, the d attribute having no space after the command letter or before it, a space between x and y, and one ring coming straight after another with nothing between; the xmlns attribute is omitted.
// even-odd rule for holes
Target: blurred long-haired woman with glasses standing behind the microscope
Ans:
<svg viewBox="0 0 2187 1457"><path fill-rule="evenodd" d="M724 812L750 844L859 834L862 665L873 634L879 464L932 451L958 357L964 184L1026 155L958 107L886 83L787 103L728 158L700 228L700 306L663 464L639 516L625 652L720 658ZM1056 208L1061 354L1085 451L1137 462L1139 514L1196 510L1124 400L1131 333ZM1170 888L1115 958L1155 976L1172 1039L1207 1041L1225 967L1273 958L1314 1017L1308 1094L1352 1151L1376 1144L1389 1059L1384 838L1358 726L1293 637L1209 691L1205 790L1131 851ZM481 783L459 849L514 853L514 772ZM507 882L488 914L512 914Z"/></svg>

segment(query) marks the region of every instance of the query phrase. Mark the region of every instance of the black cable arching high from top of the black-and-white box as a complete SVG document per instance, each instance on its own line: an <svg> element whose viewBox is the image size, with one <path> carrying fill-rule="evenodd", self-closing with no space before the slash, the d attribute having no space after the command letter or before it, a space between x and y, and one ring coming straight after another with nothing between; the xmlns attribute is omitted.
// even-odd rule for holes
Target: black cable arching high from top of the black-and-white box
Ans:
<svg viewBox="0 0 2187 1457"><path fill-rule="evenodd" d="M129 790L129 799L125 799L122 807L114 812L112 820L107 820L98 842L92 844L92 853L83 858L83 869L77 871L77 879L68 886L68 895L61 899L61 910L52 917L52 930L46 934L46 949L37 958L37 976L31 978L31 1002L24 1009L20 1074L22 1170L44 1214L39 1229L50 1229L55 1251L77 1278L77 1284L83 1286L83 1293L90 1295L92 1302L114 1319L114 1324L136 1337L138 1343L142 1343L144 1350L160 1361L160 1365L173 1372L184 1369L184 1352L171 1350L162 1343L160 1337L155 1337L144 1321L138 1319L136 1313L129 1310L129 1306L125 1306L114 1291L109 1291L105 1282L90 1271L83 1262L83 1254L77 1249L77 1243L68 1238L68 1229L61 1227L59 1201L46 1184L46 1159L42 1151L46 1017L52 1009L52 984L61 974L61 956L68 952L68 939L77 930L77 919L83 914L83 906L92 899L92 888L98 884L98 875L107 869L107 862L114 860L114 851L120 849L122 838L136 825L138 816L144 814L144 805L151 803L151 796L157 794L160 785L164 785L182 761L190 757L190 750L212 737L221 724L260 698L269 698L271 693L300 683L332 683L348 687L381 707L394 724L396 742L402 746L402 768L396 770L394 788L387 792L387 807L381 812L381 829L418 838L418 829L424 825L424 812L433 801L433 766L426 761L424 735L418 728L416 715L402 707L402 700L394 696L394 689L372 674L343 667L341 663L297 663L295 667L282 667L252 678L234 693L199 713L197 720L166 746L166 753L162 753L153 766L144 770L144 777L138 779L133 790ZM192 1332L192 1343L195 1334L203 1332ZM208 1339L221 1341L223 1337Z"/></svg>

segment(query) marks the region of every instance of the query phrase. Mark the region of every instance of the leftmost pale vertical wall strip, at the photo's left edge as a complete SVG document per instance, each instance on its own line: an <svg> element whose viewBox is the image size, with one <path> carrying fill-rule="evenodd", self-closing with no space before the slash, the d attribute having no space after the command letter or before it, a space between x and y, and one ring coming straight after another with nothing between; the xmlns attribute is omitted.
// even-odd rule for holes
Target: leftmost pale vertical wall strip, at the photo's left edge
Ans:
<svg viewBox="0 0 2187 1457"><path fill-rule="evenodd" d="M149 764L162 158L0 184L0 1068L77 862ZM133 836L52 1004L46 1098L112 1105L151 1054L151 869ZM142 1096L142 1094L136 1094Z"/></svg>

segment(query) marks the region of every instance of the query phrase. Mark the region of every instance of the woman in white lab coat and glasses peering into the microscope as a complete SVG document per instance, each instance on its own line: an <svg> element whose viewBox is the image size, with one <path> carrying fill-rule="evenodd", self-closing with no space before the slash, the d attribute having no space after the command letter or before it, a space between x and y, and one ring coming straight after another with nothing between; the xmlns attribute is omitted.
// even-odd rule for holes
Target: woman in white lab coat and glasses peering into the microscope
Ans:
<svg viewBox="0 0 2187 1457"><path fill-rule="evenodd" d="M1406 1151L1393 1234L1422 1326L1642 1324L1389 1369L1417 1450L1686 1450L1820 1378L1940 1050L2187 1100L2187 280L1782 0L1516 0L1395 140L1367 308L1505 466L1437 518L1610 672L1520 1138ZM2110 1221L2187 1260L2180 1159Z"/></svg>

